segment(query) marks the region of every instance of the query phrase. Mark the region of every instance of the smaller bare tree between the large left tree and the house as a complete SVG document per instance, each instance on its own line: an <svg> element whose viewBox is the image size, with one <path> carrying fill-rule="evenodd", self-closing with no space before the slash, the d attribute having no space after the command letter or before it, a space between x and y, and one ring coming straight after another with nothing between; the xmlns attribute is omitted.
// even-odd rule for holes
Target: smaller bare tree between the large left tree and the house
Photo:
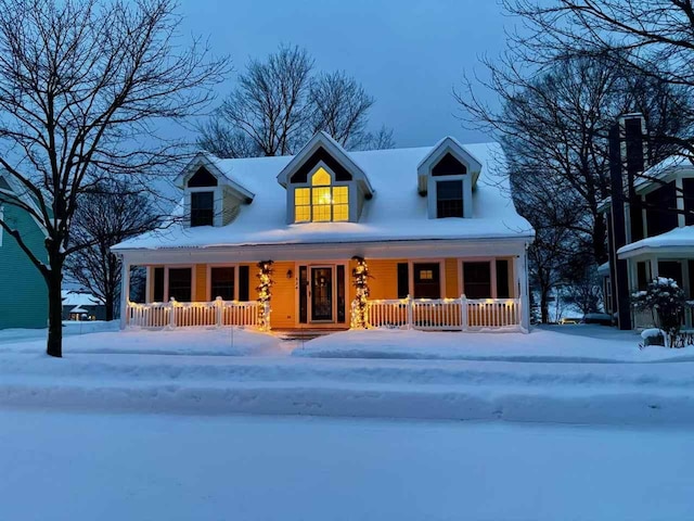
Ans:
<svg viewBox="0 0 694 521"><path fill-rule="evenodd" d="M120 262L111 246L159 224L151 198L118 180L104 180L80 195L72 240L81 249L66 258L65 274L104 303L113 320L120 290Z"/></svg>

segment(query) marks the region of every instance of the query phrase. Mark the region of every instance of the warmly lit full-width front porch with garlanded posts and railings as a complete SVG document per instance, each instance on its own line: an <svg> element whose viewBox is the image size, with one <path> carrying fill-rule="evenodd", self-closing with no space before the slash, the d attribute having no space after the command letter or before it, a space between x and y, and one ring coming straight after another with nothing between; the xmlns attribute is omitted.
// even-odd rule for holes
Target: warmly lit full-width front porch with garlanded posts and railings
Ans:
<svg viewBox="0 0 694 521"><path fill-rule="evenodd" d="M217 257L203 263L189 254L193 262L187 264L138 265L145 272L139 298L130 297L125 283L134 263L124 263L121 327L528 329L524 251L522 255L436 258L420 252L410 258L365 260L357 256L274 262L237 257L236 251L228 257L232 262ZM359 259L368 266L368 296L360 295L355 284ZM356 325L359 308L362 319Z"/></svg>

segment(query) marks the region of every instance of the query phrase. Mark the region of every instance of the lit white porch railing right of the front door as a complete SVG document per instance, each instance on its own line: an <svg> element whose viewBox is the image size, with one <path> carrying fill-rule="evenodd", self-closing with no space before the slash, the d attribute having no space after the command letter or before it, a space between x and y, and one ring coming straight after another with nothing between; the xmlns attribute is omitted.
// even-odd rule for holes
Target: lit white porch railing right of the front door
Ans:
<svg viewBox="0 0 694 521"><path fill-rule="evenodd" d="M352 303L352 309L356 306ZM519 298L397 298L367 302L369 328L432 331L520 330Z"/></svg>

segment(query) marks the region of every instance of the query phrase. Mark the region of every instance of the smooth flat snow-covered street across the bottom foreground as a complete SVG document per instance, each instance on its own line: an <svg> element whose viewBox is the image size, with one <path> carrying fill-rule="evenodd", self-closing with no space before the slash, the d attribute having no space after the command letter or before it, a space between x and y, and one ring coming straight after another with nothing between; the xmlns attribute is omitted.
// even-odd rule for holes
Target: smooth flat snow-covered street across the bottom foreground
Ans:
<svg viewBox="0 0 694 521"><path fill-rule="evenodd" d="M691 431L0 412L0 518L684 520Z"/></svg>

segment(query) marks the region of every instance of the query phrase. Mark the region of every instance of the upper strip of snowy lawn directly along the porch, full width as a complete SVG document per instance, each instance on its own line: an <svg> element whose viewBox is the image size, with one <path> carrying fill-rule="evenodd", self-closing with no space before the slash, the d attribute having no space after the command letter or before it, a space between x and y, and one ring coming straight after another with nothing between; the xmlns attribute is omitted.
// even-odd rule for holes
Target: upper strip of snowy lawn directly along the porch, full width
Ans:
<svg viewBox="0 0 694 521"><path fill-rule="evenodd" d="M46 331L0 331L0 355L44 350ZM639 348L632 331L593 325L537 327L523 333L344 331L307 342L243 328L119 331L115 322L66 322L64 354L162 354L318 358L451 359L536 363L694 361L694 346Z"/></svg>

